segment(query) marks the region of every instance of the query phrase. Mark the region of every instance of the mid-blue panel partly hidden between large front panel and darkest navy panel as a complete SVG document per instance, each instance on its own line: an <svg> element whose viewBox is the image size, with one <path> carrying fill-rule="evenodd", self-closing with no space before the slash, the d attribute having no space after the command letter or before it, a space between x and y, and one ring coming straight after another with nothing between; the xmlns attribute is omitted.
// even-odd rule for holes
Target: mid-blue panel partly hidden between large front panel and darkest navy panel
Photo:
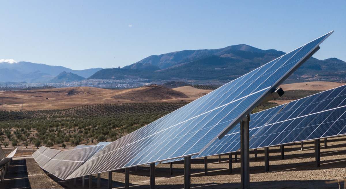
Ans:
<svg viewBox="0 0 346 189"><path fill-rule="evenodd" d="M249 136L252 136L260 129L265 123L267 123L277 112L279 112L286 104L276 106L273 108L269 108L250 116L249 123ZM224 137L220 140L215 140L212 144L210 144L206 150L198 155L194 155L191 158L199 158L211 155L219 155L230 152L235 152L240 148L240 123L237 124L232 130L230 130ZM184 158L167 160L162 163L181 161Z"/></svg>

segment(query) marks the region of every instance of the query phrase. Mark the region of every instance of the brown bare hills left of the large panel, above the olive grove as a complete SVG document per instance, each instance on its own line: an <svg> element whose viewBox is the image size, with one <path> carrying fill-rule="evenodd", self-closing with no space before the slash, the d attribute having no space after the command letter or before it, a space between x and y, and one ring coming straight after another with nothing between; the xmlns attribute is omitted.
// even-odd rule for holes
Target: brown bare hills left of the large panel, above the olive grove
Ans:
<svg viewBox="0 0 346 189"><path fill-rule="evenodd" d="M193 87L191 87L193 88ZM20 91L0 91L0 110L52 110L83 105L124 102L192 101L211 90L172 90L151 85L135 89L109 90L94 87L67 87Z"/></svg>

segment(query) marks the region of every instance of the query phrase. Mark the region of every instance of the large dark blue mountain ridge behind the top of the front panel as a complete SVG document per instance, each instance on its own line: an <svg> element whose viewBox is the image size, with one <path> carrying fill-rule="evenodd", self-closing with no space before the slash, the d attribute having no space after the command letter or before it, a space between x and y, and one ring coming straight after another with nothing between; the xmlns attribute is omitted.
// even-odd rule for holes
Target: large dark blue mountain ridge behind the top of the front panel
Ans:
<svg viewBox="0 0 346 189"><path fill-rule="evenodd" d="M249 45L233 45L212 50L184 50L151 55L121 69L103 69L89 79L143 78L150 80L230 81L284 55L274 49L261 50ZM311 57L285 82L343 81L346 63L337 58Z"/></svg>

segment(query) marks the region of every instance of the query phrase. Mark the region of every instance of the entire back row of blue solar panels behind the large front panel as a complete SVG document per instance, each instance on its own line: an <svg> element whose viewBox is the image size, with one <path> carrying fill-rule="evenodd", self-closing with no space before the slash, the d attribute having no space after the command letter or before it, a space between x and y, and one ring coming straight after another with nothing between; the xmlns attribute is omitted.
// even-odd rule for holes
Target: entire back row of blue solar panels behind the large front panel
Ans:
<svg viewBox="0 0 346 189"><path fill-rule="evenodd" d="M345 135L345 112L346 85L252 114L250 148ZM239 132L233 131L192 158L235 152L240 148L239 138Z"/></svg>

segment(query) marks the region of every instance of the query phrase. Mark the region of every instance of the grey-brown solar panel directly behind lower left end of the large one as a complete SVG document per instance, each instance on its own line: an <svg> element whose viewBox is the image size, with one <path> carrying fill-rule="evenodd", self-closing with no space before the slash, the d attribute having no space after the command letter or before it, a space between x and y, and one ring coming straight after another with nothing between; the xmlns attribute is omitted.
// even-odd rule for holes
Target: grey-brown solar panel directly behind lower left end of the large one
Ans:
<svg viewBox="0 0 346 189"><path fill-rule="evenodd" d="M59 179L65 180L74 170L100 150L103 145L77 148L61 151L48 161L42 169L52 173Z"/></svg>

